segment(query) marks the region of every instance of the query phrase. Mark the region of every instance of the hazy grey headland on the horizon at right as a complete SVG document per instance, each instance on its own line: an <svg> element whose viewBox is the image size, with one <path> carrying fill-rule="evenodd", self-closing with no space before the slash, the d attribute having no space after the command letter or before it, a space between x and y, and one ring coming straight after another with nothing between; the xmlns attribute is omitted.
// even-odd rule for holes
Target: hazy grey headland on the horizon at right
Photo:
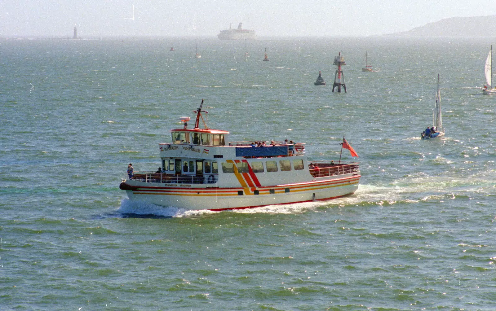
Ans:
<svg viewBox="0 0 496 311"><path fill-rule="evenodd" d="M387 37L496 37L496 15L450 17Z"/></svg>

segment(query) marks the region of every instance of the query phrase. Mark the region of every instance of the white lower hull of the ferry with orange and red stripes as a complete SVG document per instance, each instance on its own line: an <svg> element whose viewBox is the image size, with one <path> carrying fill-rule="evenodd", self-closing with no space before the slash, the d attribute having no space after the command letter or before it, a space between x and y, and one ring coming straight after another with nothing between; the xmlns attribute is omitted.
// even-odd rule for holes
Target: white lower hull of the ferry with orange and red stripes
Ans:
<svg viewBox="0 0 496 311"><path fill-rule="evenodd" d="M121 186L132 201L152 203L186 210L225 210L253 208L267 205L291 204L331 200L353 194L358 189L360 173L340 178L316 180L307 183L253 188L193 188L139 184ZM320 178L317 178L320 179ZM126 189L127 188L127 189ZM272 193L273 192L273 193Z"/></svg>

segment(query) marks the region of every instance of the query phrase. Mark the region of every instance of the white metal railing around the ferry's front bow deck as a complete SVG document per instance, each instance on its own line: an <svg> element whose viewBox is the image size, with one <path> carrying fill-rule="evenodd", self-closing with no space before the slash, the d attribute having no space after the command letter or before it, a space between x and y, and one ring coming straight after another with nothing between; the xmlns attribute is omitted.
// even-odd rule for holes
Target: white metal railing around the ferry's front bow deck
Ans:
<svg viewBox="0 0 496 311"><path fill-rule="evenodd" d="M128 176L126 177L128 178ZM144 181L147 183L215 184L219 180L219 177L216 174L204 174L203 176L195 176L153 172L135 172L130 179Z"/></svg>

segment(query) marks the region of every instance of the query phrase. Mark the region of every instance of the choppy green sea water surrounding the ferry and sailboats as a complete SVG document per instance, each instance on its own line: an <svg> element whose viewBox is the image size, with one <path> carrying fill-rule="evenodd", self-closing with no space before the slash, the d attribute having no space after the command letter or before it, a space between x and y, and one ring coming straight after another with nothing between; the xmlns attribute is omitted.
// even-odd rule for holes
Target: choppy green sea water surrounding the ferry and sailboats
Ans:
<svg viewBox="0 0 496 311"><path fill-rule="evenodd" d="M193 39L1 41L0 309L493 310L492 43L259 40L246 59L244 42L200 39L195 59ZM377 73L361 71L367 49ZM347 94L329 86L339 51ZM424 142L437 73L447 134ZM201 99L232 140L307 142L317 160L346 136L359 190L236 212L132 206L127 163L155 170Z"/></svg>

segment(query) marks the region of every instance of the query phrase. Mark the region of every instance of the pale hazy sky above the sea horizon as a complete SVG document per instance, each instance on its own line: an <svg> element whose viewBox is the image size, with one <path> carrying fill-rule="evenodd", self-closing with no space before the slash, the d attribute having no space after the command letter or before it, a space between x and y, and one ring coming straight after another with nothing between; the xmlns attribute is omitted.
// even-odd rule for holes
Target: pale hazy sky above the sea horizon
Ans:
<svg viewBox="0 0 496 311"><path fill-rule="evenodd" d="M495 14L496 0L1 0L0 36L72 37L75 23L80 37L214 36L239 22L258 37L367 36Z"/></svg>

